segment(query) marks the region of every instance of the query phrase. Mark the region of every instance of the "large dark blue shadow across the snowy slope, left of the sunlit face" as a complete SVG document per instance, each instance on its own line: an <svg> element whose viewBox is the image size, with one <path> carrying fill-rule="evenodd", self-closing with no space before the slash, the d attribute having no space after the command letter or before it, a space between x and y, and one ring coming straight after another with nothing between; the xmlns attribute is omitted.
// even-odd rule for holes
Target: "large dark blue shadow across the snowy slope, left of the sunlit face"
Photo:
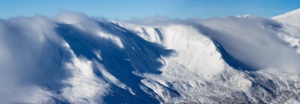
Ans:
<svg viewBox="0 0 300 104"><path fill-rule="evenodd" d="M156 59L160 58L160 56L170 56L174 50L165 49L156 43L148 42L113 23L104 21L96 24L101 28L102 32L120 38L124 48L119 47L110 39L75 29L71 24L58 24L58 27L55 29L77 56L84 56L89 60L96 60L103 64L107 72L118 79L119 82L131 88L136 94L132 95L118 86L112 86L112 95L106 96L103 102L108 104L125 102L152 102L158 104L160 101L153 99L140 89L139 86L143 85L140 80L143 78L132 72L160 74L161 71L158 68L162 64ZM94 50L100 50L102 60L97 58ZM96 68L94 68L94 72L98 77L103 76ZM147 90L152 91L149 88ZM126 98L126 100L123 98Z"/></svg>

